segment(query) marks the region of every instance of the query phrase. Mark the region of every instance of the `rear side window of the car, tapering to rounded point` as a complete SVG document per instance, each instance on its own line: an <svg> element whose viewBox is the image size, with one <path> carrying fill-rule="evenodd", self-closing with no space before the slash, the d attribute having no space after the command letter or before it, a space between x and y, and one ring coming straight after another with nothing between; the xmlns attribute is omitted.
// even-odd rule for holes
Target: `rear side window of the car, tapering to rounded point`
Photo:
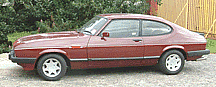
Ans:
<svg viewBox="0 0 216 87"><path fill-rule="evenodd" d="M142 21L142 35L162 35L172 31L171 27L161 22L143 20Z"/></svg>

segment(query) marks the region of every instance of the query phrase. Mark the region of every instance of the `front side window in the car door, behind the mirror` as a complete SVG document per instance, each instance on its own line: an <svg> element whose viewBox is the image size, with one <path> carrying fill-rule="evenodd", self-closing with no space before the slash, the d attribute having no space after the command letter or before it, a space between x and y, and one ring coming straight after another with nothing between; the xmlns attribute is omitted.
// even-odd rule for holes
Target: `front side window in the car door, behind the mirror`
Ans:
<svg viewBox="0 0 216 87"><path fill-rule="evenodd" d="M108 32L111 38L136 37L139 35L139 20L112 20L103 32Z"/></svg>

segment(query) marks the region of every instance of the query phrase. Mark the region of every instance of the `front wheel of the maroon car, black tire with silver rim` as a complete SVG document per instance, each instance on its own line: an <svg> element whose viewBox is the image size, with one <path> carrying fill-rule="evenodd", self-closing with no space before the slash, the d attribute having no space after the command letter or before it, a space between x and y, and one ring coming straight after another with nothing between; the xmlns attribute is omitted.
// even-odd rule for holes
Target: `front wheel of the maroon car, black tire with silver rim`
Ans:
<svg viewBox="0 0 216 87"><path fill-rule="evenodd" d="M64 58L57 54L43 56L37 63L37 71L45 80L55 81L63 77L67 70Z"/></svg>

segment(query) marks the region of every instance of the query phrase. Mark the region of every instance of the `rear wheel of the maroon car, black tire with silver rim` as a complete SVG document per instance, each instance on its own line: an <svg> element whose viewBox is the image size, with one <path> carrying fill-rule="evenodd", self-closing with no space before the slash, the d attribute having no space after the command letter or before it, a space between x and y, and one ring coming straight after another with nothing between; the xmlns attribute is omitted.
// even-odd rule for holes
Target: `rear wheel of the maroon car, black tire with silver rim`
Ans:
<svg viewBox="0 0 216 87"><path fill-rule="evenodd" d="M184 64L184 55L178 50L170 50L161 56L158 67L164 74L175 75L182 71Z"/></svg>

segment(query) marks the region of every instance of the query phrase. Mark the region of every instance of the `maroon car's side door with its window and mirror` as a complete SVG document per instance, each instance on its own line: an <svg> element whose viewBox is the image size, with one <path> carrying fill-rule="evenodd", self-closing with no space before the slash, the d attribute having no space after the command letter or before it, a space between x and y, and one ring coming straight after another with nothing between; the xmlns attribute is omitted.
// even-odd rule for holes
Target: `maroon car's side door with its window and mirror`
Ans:
<svg viewBox="0 0 216 87"><path fill-rule="evenodd" d="M89 66L93 68L139 65L143 58L143 41L139 37L140 20L112 20L88 44ZM102 37L102 33L109 37Z"/></svg>

